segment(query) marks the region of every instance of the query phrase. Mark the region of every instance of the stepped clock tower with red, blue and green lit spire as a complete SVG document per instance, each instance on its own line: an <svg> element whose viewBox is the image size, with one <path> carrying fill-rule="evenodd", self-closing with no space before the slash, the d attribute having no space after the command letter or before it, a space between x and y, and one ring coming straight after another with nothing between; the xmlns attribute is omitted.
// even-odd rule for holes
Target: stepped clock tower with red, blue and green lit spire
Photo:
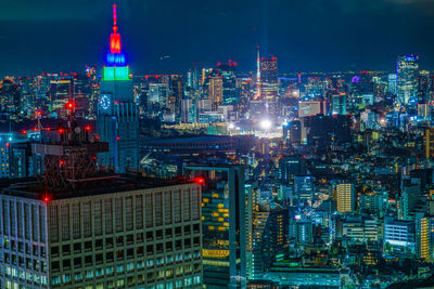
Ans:
<svg viewBox="0 0 434 289"><path fill-rule="evenodd" d="M139 119L132 93L132 79L117 27L117 10L113 5L113 32L102 71L98 101L97 131L100 141L108 143L108 152L99 155L102 166L116 172L137 169L139 163Z"/></svg>

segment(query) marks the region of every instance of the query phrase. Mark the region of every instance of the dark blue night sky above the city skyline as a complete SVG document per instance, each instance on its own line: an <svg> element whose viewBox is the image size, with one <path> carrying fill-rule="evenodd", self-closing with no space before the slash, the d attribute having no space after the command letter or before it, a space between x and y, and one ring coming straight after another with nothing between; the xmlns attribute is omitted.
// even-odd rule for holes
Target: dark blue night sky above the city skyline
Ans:
<svg viewBox="0 0 434 289"><path fill-rule="evenodd" d="M280 71L393 70L417 53L434 68L434 0L120 0L131 71L181 73L229 58L255 69L256 45ZM103 64L112 1L0 0L0 75ZM161 60L162 58L162 60Z"/></svg>

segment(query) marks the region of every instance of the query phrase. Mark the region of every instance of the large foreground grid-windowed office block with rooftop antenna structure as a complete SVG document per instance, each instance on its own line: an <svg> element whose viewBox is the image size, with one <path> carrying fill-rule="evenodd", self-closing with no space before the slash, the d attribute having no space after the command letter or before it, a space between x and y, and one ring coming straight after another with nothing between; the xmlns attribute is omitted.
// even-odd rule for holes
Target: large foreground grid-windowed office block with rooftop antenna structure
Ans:
<svg viewBox="0 0 434 289"><path fill-rule="evenodd" d="M202 288L200 186L100 171L74 123L33 144L43 182L0 193L0 287Z"/></svg>

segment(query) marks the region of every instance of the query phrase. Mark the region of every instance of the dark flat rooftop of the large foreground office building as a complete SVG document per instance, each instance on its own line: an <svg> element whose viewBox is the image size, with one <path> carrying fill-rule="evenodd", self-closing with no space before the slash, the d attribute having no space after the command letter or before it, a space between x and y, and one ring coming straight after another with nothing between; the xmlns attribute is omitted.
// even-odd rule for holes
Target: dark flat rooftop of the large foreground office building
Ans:
<svg viewBox="0 0 434 289"><path fill-rule="evenodd" d="M165 180L144 178L132 173L122 175L101 174L80 182L75 187L47 188L43 182L35 180L25 183L16 182L9 187L3 187L0 194L47 201L183 184L194 184L194 181L186 179Z"/></svg>

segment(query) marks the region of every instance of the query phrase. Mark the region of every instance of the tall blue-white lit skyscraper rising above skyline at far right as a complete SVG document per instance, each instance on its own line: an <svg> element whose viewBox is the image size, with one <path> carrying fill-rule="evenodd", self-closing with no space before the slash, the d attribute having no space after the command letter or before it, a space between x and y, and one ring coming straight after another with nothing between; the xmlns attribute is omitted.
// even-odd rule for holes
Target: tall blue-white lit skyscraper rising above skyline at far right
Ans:
<svg viewBox="0 0 434 289"><path fill-rule="evenodd" d="M418 92L418 55L399 55L396 62L398 102L408 104Z"/></svg>

